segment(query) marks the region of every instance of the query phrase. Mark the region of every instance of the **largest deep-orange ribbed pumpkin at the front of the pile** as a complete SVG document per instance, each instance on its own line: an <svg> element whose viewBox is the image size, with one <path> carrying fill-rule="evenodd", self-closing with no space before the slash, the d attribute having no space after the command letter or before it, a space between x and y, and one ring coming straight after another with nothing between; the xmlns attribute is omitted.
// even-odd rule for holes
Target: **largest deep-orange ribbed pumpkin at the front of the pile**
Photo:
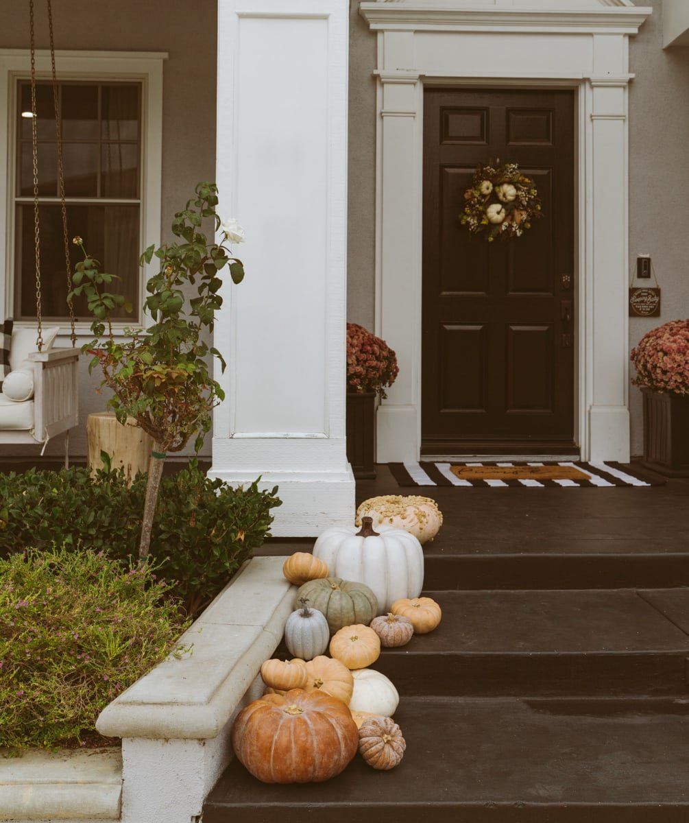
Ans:
<svg viewBox="0 0 689 823"><path fill-rule="evenodd" d="M293 689L242 709L232 745L239 762L263 783L320 783L352 760L358 731L340 700Z"/></svg>

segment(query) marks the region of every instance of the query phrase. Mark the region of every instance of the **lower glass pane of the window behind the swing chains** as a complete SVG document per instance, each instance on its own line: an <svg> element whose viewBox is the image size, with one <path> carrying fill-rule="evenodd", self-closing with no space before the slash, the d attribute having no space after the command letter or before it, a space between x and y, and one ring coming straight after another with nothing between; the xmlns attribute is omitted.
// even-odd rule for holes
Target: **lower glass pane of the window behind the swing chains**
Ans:
<svg viewBox="0 0 689 823"><path fill-rule="evenodd" d="M67 273L65 267L62 213L59 204L39 207L40 269L42 314L46 318L68 317ZM113 312L113 318L131 319L138 313L139 268L139 207L138 206L67 206L69 253L72 270L81 259L81 249L72 244L74 235L81 235L86 250L102 263L103 269L122 279L112 291L125 295L134 307L132 314L123 309ZM17 319L32 319L36 315L34 207L16 207L16 307ZM79 320L92 320L86 300L75 300L74 312Z"/></svg>

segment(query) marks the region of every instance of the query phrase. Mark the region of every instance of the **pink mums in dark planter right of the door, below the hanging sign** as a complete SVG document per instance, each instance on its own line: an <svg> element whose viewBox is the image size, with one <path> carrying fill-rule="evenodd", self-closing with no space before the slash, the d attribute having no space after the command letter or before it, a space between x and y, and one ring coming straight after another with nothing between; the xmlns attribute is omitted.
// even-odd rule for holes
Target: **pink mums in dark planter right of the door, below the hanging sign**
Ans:
<svg viewBox="0 0 689 823"><path fill-rule="evenodd" d="M644 395L643 465L689 477L689 320L652 329L631 350Z"/></svg>

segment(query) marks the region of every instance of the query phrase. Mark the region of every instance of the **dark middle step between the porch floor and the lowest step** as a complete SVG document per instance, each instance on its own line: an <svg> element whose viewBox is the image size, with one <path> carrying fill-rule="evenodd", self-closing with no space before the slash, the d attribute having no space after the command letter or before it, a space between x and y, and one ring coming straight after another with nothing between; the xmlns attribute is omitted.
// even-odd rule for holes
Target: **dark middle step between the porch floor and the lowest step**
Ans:
<svg viewBox="0 0 689 823"><path fill-rule="evenodd" d="M684 695L689 590L429 592L442 623L373 665L400 695Z"/></svg>

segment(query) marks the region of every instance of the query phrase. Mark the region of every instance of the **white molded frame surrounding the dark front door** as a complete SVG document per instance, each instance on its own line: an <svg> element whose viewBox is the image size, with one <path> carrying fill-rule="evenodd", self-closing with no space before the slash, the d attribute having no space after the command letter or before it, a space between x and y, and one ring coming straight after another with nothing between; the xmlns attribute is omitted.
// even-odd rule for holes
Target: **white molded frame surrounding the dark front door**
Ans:
<svg viewBox="0 0 689 823"><path fill-rule="evenodd" d="M378 53L376 333L400 365L378 409L381 463L420 454L423 88L444 84L576 91L576 436L583 459L629 459L628 45L653 9L555 5L361 3Z"/></svg>

